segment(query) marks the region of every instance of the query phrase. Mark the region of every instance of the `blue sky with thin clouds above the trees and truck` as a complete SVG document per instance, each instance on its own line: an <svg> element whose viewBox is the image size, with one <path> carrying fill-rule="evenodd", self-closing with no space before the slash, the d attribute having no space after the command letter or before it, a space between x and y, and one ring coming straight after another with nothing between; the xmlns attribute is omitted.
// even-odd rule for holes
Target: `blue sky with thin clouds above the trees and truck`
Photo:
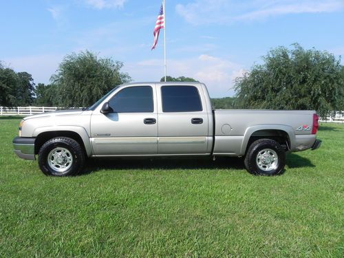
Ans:
<svg viewBox="0 0 344 258"><path fill-rule="evenodd" d="M134 81L164 74L151 51L160 0L0 1L0 61L49 83L63 56L91 50L122 61ZM344 0L166 0L167 74L191 76L211 97L271 48L300 43L344 55ZM343 63L343 61L342 61Z"/></svg>

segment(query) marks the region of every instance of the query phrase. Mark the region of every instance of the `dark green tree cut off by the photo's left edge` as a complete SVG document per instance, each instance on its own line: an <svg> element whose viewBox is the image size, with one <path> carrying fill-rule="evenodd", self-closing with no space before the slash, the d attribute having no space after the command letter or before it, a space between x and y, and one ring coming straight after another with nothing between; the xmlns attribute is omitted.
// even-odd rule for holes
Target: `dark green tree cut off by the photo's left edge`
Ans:
<svg viewBox="0 0 344 258"><path fill-rule="evenodd" d="M14 106L17 83L17 74L0 63L0 106Z"/></svg>

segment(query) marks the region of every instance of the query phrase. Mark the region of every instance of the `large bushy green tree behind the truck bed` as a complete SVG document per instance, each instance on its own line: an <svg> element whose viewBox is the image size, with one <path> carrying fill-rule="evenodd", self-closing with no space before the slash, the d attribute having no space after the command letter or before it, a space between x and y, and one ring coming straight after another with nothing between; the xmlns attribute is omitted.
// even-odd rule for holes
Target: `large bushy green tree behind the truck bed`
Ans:
<svg viewBox="0 0 344 258"><path fill-rule="evenodd" d="M318 50L277 47L235 80L236 106L251 109L315 109L321 116L343 106L340 59Z"/></svg>

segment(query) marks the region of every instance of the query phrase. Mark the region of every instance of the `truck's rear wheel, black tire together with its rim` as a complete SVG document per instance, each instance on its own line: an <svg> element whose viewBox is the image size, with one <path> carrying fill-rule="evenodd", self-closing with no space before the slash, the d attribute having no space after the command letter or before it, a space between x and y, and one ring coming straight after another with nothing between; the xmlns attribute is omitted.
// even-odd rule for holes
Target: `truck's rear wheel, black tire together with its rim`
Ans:
<svg viewBox="0 0 344 258"><path fill-rule="evenodd" d="M250 144L244 164L253 175L281 175L286 166L286 151L275 140L259 139Z"/></svg>

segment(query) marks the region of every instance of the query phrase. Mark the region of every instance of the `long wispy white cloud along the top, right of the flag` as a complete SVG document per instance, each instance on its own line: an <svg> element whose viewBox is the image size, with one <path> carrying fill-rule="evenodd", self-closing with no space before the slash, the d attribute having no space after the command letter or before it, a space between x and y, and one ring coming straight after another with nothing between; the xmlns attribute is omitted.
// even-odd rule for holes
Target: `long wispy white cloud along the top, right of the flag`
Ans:
<svg viewBox="0 0 344 258"><path fill-rule="evenodd" d="M286 14L336 12L343 9L343 0L195 0L175 7L185 21L194 25L226 24Z"/></svg>

